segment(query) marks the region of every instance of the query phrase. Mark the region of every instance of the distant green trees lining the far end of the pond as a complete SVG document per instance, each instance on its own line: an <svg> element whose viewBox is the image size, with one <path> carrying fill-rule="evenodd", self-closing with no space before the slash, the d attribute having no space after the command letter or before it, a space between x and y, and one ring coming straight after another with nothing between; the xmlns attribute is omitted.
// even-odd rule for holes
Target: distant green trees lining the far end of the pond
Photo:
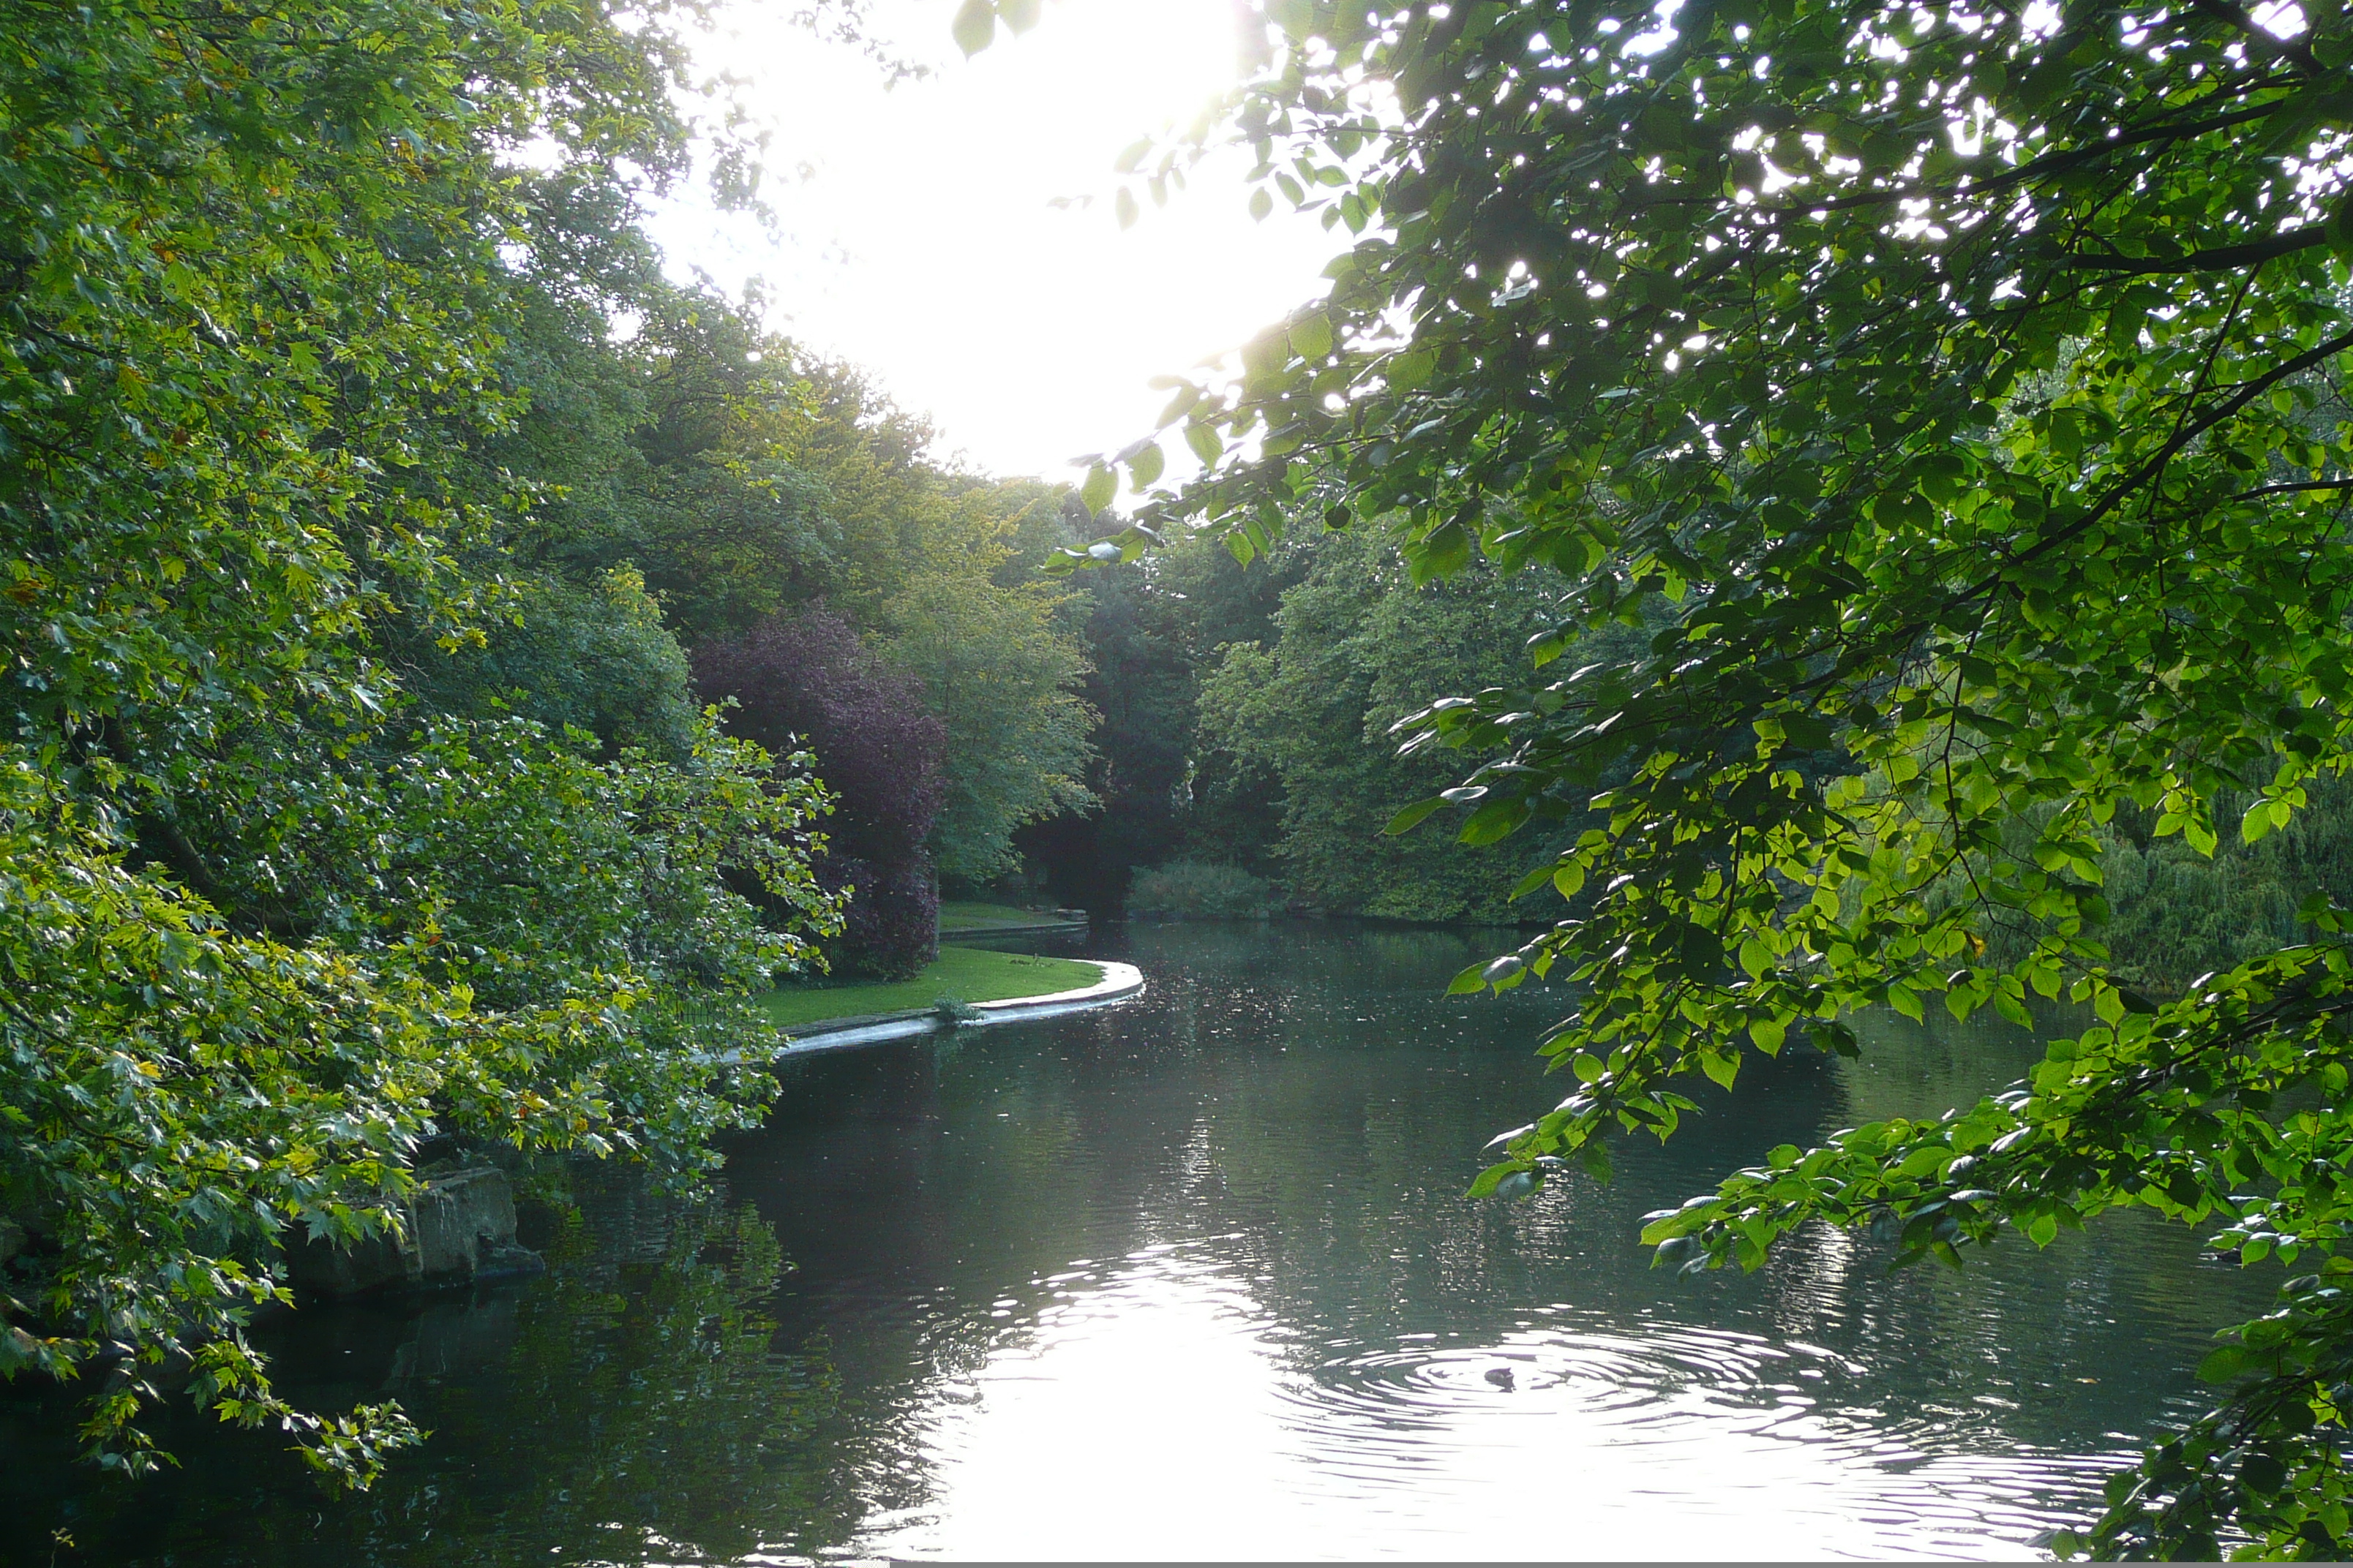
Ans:
<svg viewBox="0 0 2353 1568"><path fill-rule="evenodd" d="M1101 809L1019 835L1059 896L1167 914L1518 917L1508 893L1548 842L1466 851L1435 823L1386 835L1464 771L1447 750L1400 757L1388 731L1433 691L1525 684L1527 639L1558 618L1544 576L1473 567L1417 588L1379 536L1304 529L1249 567L1188 538L1080 583Z"/></svg>

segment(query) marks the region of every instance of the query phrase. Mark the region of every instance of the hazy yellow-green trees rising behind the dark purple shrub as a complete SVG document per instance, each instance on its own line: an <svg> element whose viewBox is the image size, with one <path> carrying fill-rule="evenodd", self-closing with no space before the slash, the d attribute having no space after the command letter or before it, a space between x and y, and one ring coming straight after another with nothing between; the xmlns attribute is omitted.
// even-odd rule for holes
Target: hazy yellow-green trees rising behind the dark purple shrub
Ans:
<svg viewBox="0 0 2353 1568"><path fill-rule="evenodd" d="M824 602L944 726L927 839L939 875L976 886L1014 870L1019 827L1094 804L1085 646L1071 595L1038 576L1066 538L1059 494L944 463L932 428L854 369L692 303L664 329L682 348L661 360L647 423L602 463L602 498L572 484L539 552L574 574L642 567L694 646ZM816 759L833 766L824 745ZM911 907L871 914L920 926Z"/></svg>

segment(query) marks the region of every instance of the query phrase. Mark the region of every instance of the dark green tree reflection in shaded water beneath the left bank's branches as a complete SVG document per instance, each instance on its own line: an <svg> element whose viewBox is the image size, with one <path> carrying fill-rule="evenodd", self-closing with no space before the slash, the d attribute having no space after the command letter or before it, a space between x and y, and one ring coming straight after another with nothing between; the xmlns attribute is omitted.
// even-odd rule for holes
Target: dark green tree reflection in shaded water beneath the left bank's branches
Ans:
<svg viewBox="0 0 2353 1568"><path fill-rule="evenodd" d="M271 1333L301 1396L393 1394L433 1432L376 1490L325 1497L266 1439L184 1422L186 1469L146 1486L54 1472L47 1507L9 1509L0 1559L45 1561L31 1542L64 1521L78 1554L61 1563L699 1561L826 1519L805 1439L838 1389L824 1345L774 1349L774 1232L631 1173L579 1182L541 1281L308 1307Z"/></svg>

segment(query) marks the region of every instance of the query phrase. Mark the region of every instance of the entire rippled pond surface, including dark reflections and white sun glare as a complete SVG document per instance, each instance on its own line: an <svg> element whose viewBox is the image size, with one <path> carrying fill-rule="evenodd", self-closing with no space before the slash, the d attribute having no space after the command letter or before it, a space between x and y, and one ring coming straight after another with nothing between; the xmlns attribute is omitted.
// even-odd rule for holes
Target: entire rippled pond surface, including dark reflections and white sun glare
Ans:
<svg viewBox="0 0 2353 1568"><path fill-rule="evenodd" d="M1433 994L1482 940L1111 931L1134 1004L809 1058L725 1197L581 1173L546 1281L271 1328L299 1396L435 1429L367 1497L193 1420L176 1474L96 1479L12 1392L0 1556L2024 1556L2268 1300L2134 1215L1965 1276L1831 1232L1645 1267L1711 1175L2014 1077L2000 1025L1751 1063L1609 1187L1464 1201L1560 1095L1544 997Z"/></svg>

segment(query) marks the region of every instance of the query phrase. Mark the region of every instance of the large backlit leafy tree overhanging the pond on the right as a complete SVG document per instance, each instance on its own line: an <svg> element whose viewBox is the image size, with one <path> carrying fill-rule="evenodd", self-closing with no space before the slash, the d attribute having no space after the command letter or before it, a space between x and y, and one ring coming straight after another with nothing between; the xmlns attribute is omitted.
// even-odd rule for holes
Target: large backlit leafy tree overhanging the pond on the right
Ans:
<svg viewBox="0 0 2353 1568"><path fill-rule="evenodd" d="M967 9L984 42L991 5ZM1546 1046L1577 1088L1478 1190L1671 1133L1680 1084L1748 1048L1854 1051L1854 1009L2026 1020L2068 994L2094 1023L2017 1088L1779 1150L1645 1234L1661 1262L1755 1267L1814 1220L1944 1262L2125 1204L2219 1225L2301 1272L2209 1361L2221 1408L2059 1544L2341 1556L2348 912L2308 898L2304 940L2158 1004L2108 971L2099 879L2120 811L2212 853L2348 759L2348 19L1266 21L1214 125L1257 148L1261 209L1282 193L1360 240L1235 376L1176 388L1214 468L1136 517L1240 552L1294 517L1395 520L1417 576L1475 550L1565 574L1537 668L1421 717L1485 757L1452 792L1461 839L1598 813L1546 867L1591 907L1461 980L1584 997ZM1129 167L1165 181L1191 150ZM1160 468L1139 444L1082 496ZM1659 604L1642 658L1553 677L1579 628Z"/></svg>

